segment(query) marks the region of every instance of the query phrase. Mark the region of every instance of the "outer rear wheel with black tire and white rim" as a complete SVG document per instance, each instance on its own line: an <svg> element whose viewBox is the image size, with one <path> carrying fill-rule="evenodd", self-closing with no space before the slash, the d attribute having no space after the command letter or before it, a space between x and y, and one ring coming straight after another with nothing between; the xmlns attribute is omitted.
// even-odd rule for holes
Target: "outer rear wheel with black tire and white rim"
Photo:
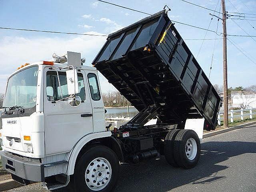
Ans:
<svg viewBox="0 0 256 192"><path fill-rule="evenodd" d="M200 140L193 130L180 130L174 142L174 159L180 167L190 169L198 163Z"/></svg>

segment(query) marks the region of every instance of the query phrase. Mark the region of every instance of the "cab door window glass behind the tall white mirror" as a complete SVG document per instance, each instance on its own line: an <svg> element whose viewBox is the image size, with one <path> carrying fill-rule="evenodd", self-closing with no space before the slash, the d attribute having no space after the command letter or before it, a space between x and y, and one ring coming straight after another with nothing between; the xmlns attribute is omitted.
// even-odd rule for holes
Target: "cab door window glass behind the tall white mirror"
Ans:
<svg viewBox="0 0 256 192"><path fill-rule="evenodd" d="M68 86L67 86L67 79L66 79L66 72L58 72L60 78L60 85L58 82L58 76L56 71L48 71L46 73L46 94L47 99L49 101L56 101L61 99L61 92L63 98L68 97ZM84 78L82 73L78 73L78 88L79 94L78 96L81 97L81 100L85 100L85 90L84 90Z"/></svg>

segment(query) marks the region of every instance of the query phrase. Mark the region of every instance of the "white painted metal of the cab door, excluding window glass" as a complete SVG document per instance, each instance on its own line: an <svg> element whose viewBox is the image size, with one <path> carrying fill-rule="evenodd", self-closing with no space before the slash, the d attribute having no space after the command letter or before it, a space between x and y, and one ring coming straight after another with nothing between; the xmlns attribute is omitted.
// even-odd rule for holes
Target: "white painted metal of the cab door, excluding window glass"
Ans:
<svg viewBox="0 0 256 192"><path fill-rule="evenodd" d="M45 68L44 84L46 85ZM45 154L60 154L72 150L76 142L93 132L92 117L81 117L82 114L92 114L92 104L86 75L84 77L86 100L76 108L68 105L68 101L48 101L46 86L44 86L44 122L45 122ZM61 138L61 139L59 139Z"/></svg>

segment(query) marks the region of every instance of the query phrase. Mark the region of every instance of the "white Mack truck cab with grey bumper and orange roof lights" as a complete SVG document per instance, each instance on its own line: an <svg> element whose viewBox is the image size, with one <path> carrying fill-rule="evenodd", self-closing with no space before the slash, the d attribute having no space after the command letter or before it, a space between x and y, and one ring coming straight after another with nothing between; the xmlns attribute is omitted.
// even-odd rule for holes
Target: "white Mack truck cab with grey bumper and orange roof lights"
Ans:
<svg viewBox="0 0 256 192"><path fill-rule="evenodd" d="M69 92L70 68L77 73L76 93ZM74 52L67 52L66 64L40 61L12 73L1 119L2 164L18 181L66 174L70 152L81 138L111 135L105 127L98 71L82 66L80 53Z"/></svg>

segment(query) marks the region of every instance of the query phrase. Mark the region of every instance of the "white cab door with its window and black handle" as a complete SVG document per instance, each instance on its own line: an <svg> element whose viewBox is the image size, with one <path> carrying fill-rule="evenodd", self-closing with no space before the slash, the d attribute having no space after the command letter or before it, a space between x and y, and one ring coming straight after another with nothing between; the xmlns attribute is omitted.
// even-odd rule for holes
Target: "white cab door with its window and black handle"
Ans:
<svg viewBox="0 0 256 192"><path fill-rule="evenodd" d="M69 152L83 136L93 132L92 104L86 74L78 71L79 96L82 102L71 107L68 97L66 72L44 69L44 127L45 154ZM61 88L61 89L60 89ZM62 93L62 97L61 97Z"/></svg>

